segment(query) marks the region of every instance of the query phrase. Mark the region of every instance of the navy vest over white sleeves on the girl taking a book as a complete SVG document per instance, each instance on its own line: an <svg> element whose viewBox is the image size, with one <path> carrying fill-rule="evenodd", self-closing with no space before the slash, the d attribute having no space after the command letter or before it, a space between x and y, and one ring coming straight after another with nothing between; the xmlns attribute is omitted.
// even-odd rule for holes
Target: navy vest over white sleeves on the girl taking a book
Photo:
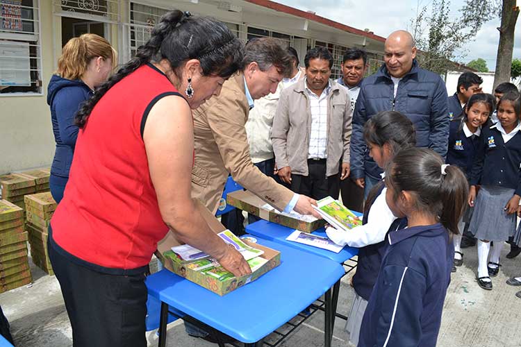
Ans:
<svg viewBox="0 0 521 347"><path fill-rule="evenodd" d="M372 201L368 203L371 205L374 203L377 197L381 194L383 187L385 187L383 184L380 184L377 187L377 194L374 196ZM363 214L362 222L364 224L367 223L367 217L369 216L370 210L371 208L366 209ZM402 229L406 226L407 219L396 219L392 222L389 230ZM383 255L386 253L387 246L388 241L386 236L386 239L378 244L370 244L358 249L358 264L356 264L356 273L353 276L353 287L356 294L366 301L369 301L371 296L374 282L376 282L380 271L381 260L383 259Z"/></svg>

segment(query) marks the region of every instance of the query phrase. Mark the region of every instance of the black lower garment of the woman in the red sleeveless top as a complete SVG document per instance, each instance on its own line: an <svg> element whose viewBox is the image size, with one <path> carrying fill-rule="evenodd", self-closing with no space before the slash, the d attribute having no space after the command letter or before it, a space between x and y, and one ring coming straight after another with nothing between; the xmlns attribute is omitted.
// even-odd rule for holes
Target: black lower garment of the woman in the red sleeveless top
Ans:
<svg viewBox="0 0 521 347"><path fill-rule="evenodd" d="M147 347L145 274L101 273L72 262L50 242L47 247L72 325L73 346Z"/></svg>

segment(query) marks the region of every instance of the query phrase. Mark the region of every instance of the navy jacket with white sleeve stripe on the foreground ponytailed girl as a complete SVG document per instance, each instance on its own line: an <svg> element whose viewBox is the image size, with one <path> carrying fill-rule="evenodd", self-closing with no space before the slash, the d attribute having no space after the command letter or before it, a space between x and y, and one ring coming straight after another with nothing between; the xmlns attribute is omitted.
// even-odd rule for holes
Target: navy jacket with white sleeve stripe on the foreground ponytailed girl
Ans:
<svg viewBox="0 0 521 347"><path fill-rule="evenodd" d="M454 246L440 223L389 233L358 347L436 346Z"/></svg>

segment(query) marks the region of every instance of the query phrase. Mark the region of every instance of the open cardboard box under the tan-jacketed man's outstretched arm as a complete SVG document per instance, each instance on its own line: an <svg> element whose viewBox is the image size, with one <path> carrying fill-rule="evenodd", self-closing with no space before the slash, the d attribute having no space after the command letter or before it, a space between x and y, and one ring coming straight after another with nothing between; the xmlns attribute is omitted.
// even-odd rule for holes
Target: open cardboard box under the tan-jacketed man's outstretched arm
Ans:
<svg viewBox="0 0 521 347"><path fill-rule="evenodd" d="M226 203L240 210L255 214L266 221L272 221L273 223L301 231L312 232L326 224L324 219L316 219L311 215L302 215L297 212L280 212L255 194L245 190L229 193L226 196Z"/></svg>

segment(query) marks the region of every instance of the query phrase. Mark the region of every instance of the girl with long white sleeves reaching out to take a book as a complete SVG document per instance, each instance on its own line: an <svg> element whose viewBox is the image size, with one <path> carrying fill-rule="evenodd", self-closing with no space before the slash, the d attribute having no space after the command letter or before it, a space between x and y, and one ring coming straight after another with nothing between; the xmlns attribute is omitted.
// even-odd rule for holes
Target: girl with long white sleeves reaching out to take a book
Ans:
<svg viewBox="0 0 521 347"><path fill-rule="evenodd" d="M414 147L416 135L411 120L396 111L383 111L374 115L364 126L364 139L370 156L381 169L402 149ZM385 179L385 178L384 178ZM367 301L371 296L374 282L383 255L386 252L386 235L390 230L406 226L406 220L396 219L386 203L386 188L383 181L375 185L367 201L363 214L363 225L343 232L332 227L326 228L328 237L336 244L349 244L360 248L358 265L353 277L355 296L345 329L349 341L358 344L358 334Z"/></svg>

